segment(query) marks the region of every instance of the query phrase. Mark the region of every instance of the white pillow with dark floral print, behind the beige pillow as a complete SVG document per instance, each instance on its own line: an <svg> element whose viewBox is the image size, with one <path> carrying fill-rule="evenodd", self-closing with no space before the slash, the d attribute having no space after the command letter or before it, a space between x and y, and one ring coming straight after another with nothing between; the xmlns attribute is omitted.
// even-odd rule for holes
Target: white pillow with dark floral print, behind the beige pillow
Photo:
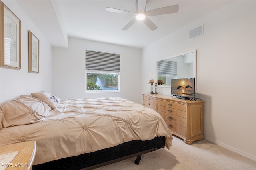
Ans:
<svg viewBox="0 0 256 170"><path fill-rule="evenodd" d="M37 93L31 93L33 97L38 98L39 100L45 102L47 105L49 105L52 109L56 109L58 105L60 104L60 99L51 93L48 93L46 91L41 91Z"/></svg>

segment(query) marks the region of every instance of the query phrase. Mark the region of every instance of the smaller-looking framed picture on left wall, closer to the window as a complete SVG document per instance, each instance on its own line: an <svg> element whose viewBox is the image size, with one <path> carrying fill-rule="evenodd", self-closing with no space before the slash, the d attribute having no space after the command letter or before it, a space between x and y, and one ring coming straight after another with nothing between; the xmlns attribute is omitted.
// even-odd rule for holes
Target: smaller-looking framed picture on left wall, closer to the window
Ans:
<svg viewBox="0 0 256 170"><path fill-rule="evenodd" d="M39 40L28 31L28 72L39 73Z"/></svg>

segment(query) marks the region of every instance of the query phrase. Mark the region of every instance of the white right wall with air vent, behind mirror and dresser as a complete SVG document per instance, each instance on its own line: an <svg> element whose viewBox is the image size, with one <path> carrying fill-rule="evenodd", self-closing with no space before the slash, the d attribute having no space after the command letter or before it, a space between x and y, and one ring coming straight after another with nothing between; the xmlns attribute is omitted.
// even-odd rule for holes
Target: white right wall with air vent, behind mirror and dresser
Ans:
<svg viewBox="0 0 256 170"><path fill-rule="evenodd" d="M189 40L202 24L204 36ZM193 49L205 139L256 160L256 2L232 2L142 49L142 93L156 60Z"/></svg>

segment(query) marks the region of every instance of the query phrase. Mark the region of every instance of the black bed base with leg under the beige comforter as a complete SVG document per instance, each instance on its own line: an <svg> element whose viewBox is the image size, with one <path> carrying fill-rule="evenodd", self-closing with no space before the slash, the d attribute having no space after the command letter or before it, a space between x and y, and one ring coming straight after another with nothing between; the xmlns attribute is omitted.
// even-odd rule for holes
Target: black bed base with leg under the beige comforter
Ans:
<svg viewBox="0 0 256 170"><path fill-rule="evenodd" d="M32 170L91 170L132 157L137 157L135 164L138 165L142 154L164 147L165 137L156 137L146 141L133 140L112 148L33 165Z"/></svg>

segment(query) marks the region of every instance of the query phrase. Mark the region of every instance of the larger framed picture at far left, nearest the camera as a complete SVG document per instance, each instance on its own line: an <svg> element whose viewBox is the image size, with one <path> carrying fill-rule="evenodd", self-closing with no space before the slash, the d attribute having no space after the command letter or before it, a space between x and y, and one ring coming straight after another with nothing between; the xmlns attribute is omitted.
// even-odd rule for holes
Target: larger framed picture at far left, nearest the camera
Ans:
<svg viewBox="0 0 256 170"><path fill-rule="evenodd" d="M21 21L0 1L0 66L21 68Z"/></svg>

